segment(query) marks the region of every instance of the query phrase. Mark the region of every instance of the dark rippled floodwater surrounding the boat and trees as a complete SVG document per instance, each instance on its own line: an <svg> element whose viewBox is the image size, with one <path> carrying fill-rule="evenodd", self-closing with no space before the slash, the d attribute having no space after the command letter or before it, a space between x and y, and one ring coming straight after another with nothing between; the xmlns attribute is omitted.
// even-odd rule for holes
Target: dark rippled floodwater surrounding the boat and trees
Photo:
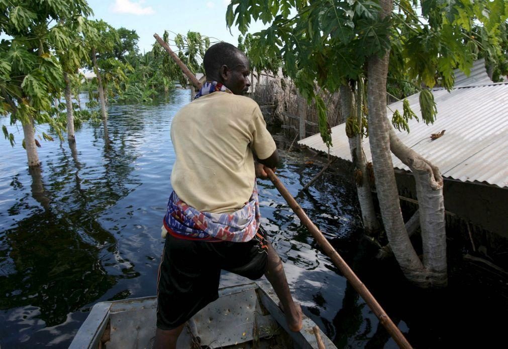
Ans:
<svg viewBox="0 0 508 349"><path fill-rule="evenodd" d="M3 349L67 347L93 304L155 294L175 160L169 129L188 101L188 90L176 90L153 104L111 106L111 144L104 142L102 125L85 123L76 131L75 147L56 136L41 142L40 170L27 169L22 132L14 148L0 140ZM281 149L281 181L415 347L505 343L506 295L484 283L482 273L465 268L460 251L450 253L448 289L412 287L393 261L374 258L350 176L330 169L308 193L300 192L322 160L285 152L288 144L274 137ZM397 347L272 184L259 181L259 189L262 224L306 315L339 348ZM223 274L225 285L241 281Z"/></svg>

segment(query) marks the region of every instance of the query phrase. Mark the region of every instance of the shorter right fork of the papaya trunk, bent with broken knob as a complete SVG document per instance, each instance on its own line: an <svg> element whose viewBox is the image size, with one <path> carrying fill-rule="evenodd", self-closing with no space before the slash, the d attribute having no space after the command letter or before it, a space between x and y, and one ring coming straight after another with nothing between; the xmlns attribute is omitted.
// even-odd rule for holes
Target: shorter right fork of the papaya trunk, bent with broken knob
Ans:
<svg viewBox="0 0 508 349"><path fill-rule="evenodd" d="M390 127L390 148L412 171L416 182L422 231L423 265L432 286L447 285L443 179L439 169L405 146Z"/></svg>

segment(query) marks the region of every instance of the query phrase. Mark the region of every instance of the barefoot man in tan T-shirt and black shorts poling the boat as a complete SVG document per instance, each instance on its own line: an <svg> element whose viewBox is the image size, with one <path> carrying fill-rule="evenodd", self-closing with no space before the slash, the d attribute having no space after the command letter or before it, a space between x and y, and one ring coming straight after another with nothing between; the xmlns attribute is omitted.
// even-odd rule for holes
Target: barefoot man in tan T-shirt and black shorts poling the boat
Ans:
<svg viewBox="0 0 508 349"><path fill-rule="evenodd" d="M248 59L218 43L203 64L207 82L171 126L176 160L157 278L155 348L176 348L185 322L217 299L223 269L251 280L266 275L289 328L302 327L301 308L260 225L256 177L275 170L278 155L258 104L243 96Z"/></svg>

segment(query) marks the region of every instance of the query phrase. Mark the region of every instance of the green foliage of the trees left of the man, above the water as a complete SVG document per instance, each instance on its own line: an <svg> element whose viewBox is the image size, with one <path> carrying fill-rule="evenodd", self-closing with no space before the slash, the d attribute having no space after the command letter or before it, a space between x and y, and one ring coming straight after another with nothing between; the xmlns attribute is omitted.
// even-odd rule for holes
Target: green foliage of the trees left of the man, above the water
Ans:
<svg viewBox="0 0 508 349"><path fill-rule="evenodd" d="M149 101L174 87L176 75L160 74L162 57L138 54L136 31L87 19L91 9L85 0L0 0L0 4L0 31L10 38L0 42L0 114L10 113L11 124L26 124L30 119L48 123L63 139L66 105L53 106L53 102L66 84L79 93L83 77L78 72L84 66L101 74L110 100ZM181 54L199 68L198 57L209 39L195 32L180 39ZM92 51L97 66L90 59ZM93 82L85 85L97 89ZM90 100L88 108L95 107L97 102ZM75 125L98 118L97 111L73 109ZM6 126L3 132L14 145L14 135ZM39 138L52 140L44 132Z"/></svg>

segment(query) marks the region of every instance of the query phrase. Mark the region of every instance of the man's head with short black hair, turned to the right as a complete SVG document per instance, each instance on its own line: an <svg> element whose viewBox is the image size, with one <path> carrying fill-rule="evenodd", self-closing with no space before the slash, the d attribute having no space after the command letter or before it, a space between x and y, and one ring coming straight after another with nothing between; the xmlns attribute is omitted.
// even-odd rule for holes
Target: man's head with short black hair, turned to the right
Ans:
<svg viewBox="0 0 508 349"><path fill-rule="evenodd" d="M249 60L235 46L228 43L210 46L203 58L203 65L208 81L217 81L234 94L247 92L250 86Z"/></svg>

